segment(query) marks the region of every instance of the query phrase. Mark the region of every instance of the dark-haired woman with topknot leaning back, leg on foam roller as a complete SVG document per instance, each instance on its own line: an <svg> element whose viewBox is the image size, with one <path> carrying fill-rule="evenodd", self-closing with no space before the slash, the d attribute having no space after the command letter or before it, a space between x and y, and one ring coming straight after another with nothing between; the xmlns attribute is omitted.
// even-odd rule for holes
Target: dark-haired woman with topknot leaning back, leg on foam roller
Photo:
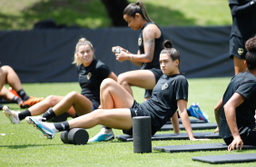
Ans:
<svg viewBox="0 0 256 167"><path fill-rule="evenodd" d="M163 45L159 60L162 77L154 86L153 95L147 101L136 103L131 93L122 85L113 79L105 79L101 84L101 109L62 123L43 123L33 117L30 118L30 122L33 122L48 139L53 139L58 132L73 128L88 129L98 124L132 134L133 117L150 116L154 134L178 109L190 140L195 140L187 113L188 83L179 70L180 54L172 48L171 41L165 41Z"/></svg>

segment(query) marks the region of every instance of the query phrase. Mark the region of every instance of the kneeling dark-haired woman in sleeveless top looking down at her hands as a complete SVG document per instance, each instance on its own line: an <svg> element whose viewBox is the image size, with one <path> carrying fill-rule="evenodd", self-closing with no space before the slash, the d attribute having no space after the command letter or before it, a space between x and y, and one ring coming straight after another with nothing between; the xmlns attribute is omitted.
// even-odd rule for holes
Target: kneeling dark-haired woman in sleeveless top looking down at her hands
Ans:
<svg viewBox="0 0 256 167"><path fill-rule="evenodd" d="M133 95L131 86L138 86L145 89L144 100L152 96L153 87L162 76L159 64L159 55L163 49L162 43L164 37L160 27L153 23L147 15L147 11L142 1L127 5L123 10L123 19L134 31L140 30L138 38L138 52L132 54L121 46L113 46L112 50L116 60L123 62L129 60L133 64L141 67L140 70L134 70L119 74L117 82L120 83L128 93ZM190 116L194 116L209 122L207 115L203 113L197 103L193 103L188 109ZM172 117L174 133L179 133L179 122L177 113ZM105 141L105 135L112 134L112 130L103 126L100 133L96 134L89 142Z"/></svg>

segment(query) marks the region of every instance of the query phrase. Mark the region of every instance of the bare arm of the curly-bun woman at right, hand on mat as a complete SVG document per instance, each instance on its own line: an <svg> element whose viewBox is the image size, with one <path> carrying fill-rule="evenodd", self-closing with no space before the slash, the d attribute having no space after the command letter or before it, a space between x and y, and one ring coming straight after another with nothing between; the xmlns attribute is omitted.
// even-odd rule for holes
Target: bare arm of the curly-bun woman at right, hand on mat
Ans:
<svg viewBox="0 0 256 167"><path fill-rule="evenodd" d="M243 103L244 100L245 100L245 97L242 96L240 93L234 93L231 96L231 99L224 105L224 112L225 112L226 120L227 120L227 123L229 125L229 128L230 128L232 136L233 136L233 141L231 142L231 144L228 147L229 152L231 150L234 150L235 146L236 146L236 149L238 150L239 145L241 145L241 147L240 147L240 150L241 150L242 145L243 145L243 142L241 141L240 133L238 131L237 123L236 123L235 109L236 109L236 107L241 105L241 103Z"/></svg>

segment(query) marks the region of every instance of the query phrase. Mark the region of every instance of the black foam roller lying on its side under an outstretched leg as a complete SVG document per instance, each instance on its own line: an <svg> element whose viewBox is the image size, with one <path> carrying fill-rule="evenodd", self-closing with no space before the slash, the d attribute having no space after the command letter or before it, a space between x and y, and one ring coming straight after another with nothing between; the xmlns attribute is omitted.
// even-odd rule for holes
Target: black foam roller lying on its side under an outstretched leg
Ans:
<svg viewBox="0 0 256 167"><path fill-rule="evenodd" d="M89 139L89 134L83 128L74 128L69 131L67 139L68 143L86 144Z"/></svg>

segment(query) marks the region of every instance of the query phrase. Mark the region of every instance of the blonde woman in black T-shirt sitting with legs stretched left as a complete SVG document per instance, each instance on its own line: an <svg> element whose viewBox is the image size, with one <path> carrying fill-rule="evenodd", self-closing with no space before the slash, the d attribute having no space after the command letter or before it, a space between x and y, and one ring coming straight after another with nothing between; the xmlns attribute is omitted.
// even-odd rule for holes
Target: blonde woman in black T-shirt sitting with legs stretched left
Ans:
<svg viewBox="0 0 256 167"><path fill-rule="evenodd" d="M25 112L15 112L4 107L5 115L11 123L20 123L27 116L44 113L35 119L47 121L56 115L67 112L72 117L91 113L100 105L100 85L105 78L117 80L117 76L110 71L109 67L94 58L94 47L90 41L81 38L75 46L74 63L78 66L79 83L81 93L71 92L66 96L50 95L41 103L36 103ZM53 107L53 108L52 108Z"/></svg>

